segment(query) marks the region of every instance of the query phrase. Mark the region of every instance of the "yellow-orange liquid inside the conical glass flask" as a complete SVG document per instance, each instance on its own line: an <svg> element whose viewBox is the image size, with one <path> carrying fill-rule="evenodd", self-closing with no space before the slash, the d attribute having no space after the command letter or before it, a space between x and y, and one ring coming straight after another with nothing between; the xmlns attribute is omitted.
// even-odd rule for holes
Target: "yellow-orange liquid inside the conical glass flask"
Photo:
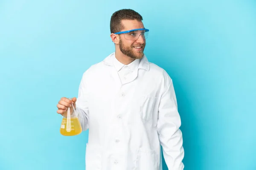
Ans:
<svg viewBox="0 0 256 170"><path fill-rule="evenodd" d="M71 117L71 131L67 131L67 118L64 117L61 122L60 133L64 136L75 136L82 132L82 127L77 117Z"/></svg>

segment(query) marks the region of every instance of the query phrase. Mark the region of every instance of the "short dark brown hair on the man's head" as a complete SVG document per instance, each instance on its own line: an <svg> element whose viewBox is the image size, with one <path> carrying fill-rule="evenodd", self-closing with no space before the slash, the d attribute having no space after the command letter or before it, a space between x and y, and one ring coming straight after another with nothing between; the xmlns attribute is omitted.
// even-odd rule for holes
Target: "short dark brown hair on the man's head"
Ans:
<svg viewBox="0 0 256 170"><path fill-rule="evenodd" d="M111 33L116 33L121 31L124 26L122 25L122 20L138 20L142 21L143 17L136 11L132 9L121 9L112 14L110 20L110 31Z"/></svg>

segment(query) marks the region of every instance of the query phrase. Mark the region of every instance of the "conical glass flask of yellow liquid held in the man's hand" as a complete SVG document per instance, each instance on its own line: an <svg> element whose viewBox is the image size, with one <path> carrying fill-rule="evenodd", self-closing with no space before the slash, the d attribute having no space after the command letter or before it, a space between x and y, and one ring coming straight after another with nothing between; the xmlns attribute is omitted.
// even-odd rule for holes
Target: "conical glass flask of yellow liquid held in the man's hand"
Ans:
<svg viewBox="0 0 256 170"><path fill-rule="evenodd" d="M68 98L72 100L72 98ZM60 133L64 136L75 136L82 132L82 127L78 119L78 111L74 108L73 104L71 108L63 114Z"/></svg>

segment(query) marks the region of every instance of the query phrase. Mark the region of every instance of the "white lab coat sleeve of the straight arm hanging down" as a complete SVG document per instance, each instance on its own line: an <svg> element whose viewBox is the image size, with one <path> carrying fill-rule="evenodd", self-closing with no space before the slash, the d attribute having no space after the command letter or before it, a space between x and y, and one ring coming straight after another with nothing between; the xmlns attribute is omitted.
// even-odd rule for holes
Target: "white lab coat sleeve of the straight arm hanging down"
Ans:
<svg viewBox="0 0 256 170"><path fill-rule="evenodd" d="M183 170L183 138L181 120L177 111L177 100L172 79L160 98L157 133L163 148L163 156L169 170Z"/></svg>

